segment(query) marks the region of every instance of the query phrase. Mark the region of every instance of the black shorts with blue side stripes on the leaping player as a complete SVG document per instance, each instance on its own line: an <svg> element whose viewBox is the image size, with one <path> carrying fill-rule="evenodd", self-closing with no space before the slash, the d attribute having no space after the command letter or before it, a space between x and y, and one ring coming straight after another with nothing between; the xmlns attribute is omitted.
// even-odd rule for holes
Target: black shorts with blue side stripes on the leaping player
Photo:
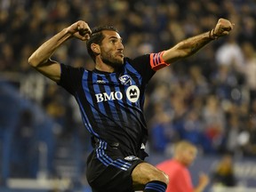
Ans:
<svg viewBox="0 0 256 192"><path fill-rule="evenodd" d="M144 162L124 156L120 148L100 141L87 159L86 178L92 192L133 192L132 170Z"/></svg>

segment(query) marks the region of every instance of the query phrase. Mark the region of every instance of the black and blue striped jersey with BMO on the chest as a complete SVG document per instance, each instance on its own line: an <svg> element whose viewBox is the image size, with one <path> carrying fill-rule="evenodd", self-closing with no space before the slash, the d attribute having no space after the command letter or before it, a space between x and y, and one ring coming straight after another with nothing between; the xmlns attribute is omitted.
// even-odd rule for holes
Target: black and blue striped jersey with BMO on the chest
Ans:
<svg viewBox="0 0 256 192"><path fill-rule="evenodd" d="M145 89L156 70L168 64L163 52L124 58L114 73L61 64L60 86L78 103L84 125L93 137L118 142L136 155L148 138L143 115Z"/></svg>

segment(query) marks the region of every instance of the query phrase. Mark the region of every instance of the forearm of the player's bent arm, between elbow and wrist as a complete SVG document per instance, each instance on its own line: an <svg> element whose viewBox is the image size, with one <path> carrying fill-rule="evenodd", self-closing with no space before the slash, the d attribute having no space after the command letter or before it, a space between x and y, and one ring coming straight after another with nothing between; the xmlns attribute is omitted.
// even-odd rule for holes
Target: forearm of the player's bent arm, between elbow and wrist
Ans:
<svg viewBox="0 0 256 192"><path fill-rule="evenodd" d="M67 28L64 28L60 31L60 33L52 36L51 39L38 47L36 52L33 52L33 54L29 57L28 63L34 68L40 67L40 65L44 64L47 60L50 60L53 52L55 52L61 44L66 42L70 36L71 34L68 33Z"/></svg>

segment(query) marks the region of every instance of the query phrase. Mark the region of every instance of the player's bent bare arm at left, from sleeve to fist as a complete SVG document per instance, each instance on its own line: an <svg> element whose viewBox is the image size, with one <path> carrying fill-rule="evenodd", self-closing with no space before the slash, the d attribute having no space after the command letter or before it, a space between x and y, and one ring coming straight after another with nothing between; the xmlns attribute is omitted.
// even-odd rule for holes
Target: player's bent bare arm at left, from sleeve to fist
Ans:
<svg viewBox="0 0 256 192"><path fill-rule="evenodd" d="M68 28L62 29L58 34L52 36L48 41L39 46L28 59L29 65L36 68L44 76L55 82L60 81L60 63L51 60L52 54L69 38L76 37L82 41L89 39L91 29L83 20L73 23Z"/></svg>

